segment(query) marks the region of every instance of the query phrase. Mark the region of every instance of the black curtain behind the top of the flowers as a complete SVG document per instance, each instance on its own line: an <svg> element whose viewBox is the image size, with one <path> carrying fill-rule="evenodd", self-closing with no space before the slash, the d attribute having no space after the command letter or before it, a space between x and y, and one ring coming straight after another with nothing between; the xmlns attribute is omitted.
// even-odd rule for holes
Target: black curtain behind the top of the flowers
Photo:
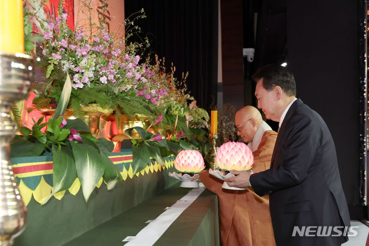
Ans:
<svg viewBox="0 0 369 246"><path fill-rule="evenodd" d="M144 8L146 18L137 19L141 37L151 42L148 52L165 57L175 77L189 72L188 92L198 106L209 110L217 102L218 1L217 0L126 0L125 14ZM137 40L133 37L131 40ZM130 42L130 40L129 40ZM153 57L153 55L152 55Z"/></svg>

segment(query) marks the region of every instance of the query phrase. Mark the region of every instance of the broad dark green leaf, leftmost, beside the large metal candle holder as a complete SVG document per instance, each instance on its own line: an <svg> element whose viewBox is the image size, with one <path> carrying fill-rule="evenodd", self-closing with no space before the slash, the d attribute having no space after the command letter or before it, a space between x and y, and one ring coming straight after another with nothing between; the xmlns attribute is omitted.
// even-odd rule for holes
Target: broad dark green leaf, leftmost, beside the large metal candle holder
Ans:
<svg viewBox="0 0 369 246"><path fill-rule="evenodd" d="M10 157L39 156L45 150L45 145L19 140L10 144Z"/></svg>

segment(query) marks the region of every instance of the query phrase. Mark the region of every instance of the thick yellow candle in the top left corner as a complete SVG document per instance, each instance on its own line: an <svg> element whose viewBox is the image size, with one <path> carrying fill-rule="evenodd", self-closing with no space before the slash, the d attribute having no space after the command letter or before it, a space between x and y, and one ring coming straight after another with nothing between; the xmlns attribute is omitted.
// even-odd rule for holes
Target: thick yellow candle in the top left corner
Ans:
<svg viewBox="0 0 369 246"><path fill-rule="evenodd" d="M23 1L0 0L0 53L23 52Z"/></svg>

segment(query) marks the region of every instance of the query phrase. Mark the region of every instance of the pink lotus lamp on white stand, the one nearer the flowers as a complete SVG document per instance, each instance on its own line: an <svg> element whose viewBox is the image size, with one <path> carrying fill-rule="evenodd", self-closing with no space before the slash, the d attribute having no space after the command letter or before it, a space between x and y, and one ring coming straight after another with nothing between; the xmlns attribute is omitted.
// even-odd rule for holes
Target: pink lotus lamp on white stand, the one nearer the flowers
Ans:
<svg viewBox="0 0 369 246"><path fill-rule="evenodd" d="M191 181L191 178L198 176L197 173L201 172L204 166L204 160L197 150L182 150L178 153L174 160L174 167L180 173L169 173L172 178L181 180L180 187L197 188L199 187L196 180ZM190 176L189 174L194 174Z"/></svg>

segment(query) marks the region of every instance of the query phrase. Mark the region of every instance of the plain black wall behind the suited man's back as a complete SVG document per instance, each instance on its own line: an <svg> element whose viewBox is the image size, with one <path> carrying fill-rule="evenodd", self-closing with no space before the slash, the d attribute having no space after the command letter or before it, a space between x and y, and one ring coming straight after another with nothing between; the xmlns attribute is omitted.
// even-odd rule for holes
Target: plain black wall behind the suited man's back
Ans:
<svg viewBox="0 0 369 246"><path fill-rule="evenodd" d="M286 61L298 97L332 133L352 217L360 203L358 12L357 1L286 2Z"/></svg>

